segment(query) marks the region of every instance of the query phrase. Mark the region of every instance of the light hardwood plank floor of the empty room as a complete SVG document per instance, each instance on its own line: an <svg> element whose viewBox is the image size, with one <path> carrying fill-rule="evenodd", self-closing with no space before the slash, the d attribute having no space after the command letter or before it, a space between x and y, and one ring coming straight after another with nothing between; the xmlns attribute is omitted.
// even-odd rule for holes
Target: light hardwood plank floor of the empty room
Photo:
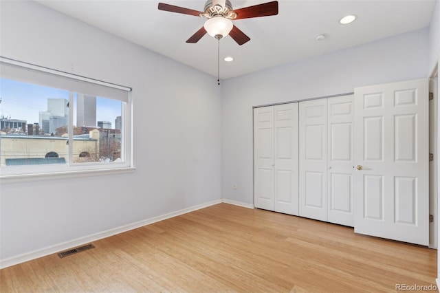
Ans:
<svg viewBox="0 0 440 293"><path fill-rule="evenodd" d="M0 292L395 292L437 275L437 250L230 204L94 246L0 270Z"/></svg>

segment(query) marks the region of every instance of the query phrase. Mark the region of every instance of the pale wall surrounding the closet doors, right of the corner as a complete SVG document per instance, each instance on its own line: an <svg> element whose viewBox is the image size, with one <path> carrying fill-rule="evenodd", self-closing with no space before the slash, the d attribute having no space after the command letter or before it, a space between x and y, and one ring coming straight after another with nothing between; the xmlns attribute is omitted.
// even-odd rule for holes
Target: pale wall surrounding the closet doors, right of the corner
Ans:
<svg viewBox="0 0 440 293"><path fill-rule="evenodd" d="M253 204L252 107L427 77L428 29L223 82L223 197ZM236 182L237 189L232 189Z"/></svg>

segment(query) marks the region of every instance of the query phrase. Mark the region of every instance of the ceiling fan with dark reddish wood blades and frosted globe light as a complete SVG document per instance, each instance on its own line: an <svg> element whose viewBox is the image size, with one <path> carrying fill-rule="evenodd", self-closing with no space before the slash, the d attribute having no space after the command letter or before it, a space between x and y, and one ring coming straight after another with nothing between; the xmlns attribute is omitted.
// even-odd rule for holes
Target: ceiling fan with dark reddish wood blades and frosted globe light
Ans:
<svg viewBox="0 0 440 293"><path fill-rule="evenodd" d="M236 43L243 45L250 41L250 37L246 36L246 34L239 30L239 28L233 25L232 21L236 19L250 19L252 17L268 17L276 15L278 14L278 1L233 10L232 4L229 0L208 0L205 3L204 12L173 6L166 3L159 3L158 8L159 10L188 14L208 19L203 27L186 40L186 43L197 43L202 36L208 33L210 36L213 36L218 40L229 34Z"/></svg>

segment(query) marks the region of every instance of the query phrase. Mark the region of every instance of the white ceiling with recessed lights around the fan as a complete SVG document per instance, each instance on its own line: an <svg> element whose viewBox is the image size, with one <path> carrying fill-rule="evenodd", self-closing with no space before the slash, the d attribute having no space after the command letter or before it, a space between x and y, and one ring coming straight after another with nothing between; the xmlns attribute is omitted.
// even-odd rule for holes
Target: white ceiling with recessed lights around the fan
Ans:
<svg viewBox="0 0 440 293"><path fill-rule="evenodd" d="M217 76L217 40L206 34L195 44L185 43L204 19L157 9L163 2L203 11L204 0L36 0L101 30L154 52ZM231 0L233 9L272 0ZM237 45L230 36L220 41L220 77L231 78L368 43L427 27L435 0L279 0L279 13L234 21L251 41ZM340 18L358 19L340 25ZM325 34L323 41L315 36Z"/></svg>

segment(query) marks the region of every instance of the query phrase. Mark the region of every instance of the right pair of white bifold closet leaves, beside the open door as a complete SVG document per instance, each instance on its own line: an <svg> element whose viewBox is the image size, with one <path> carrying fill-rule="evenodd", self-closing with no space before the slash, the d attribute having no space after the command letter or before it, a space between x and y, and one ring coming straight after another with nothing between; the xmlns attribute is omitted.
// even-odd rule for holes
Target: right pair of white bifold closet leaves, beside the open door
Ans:
<svg viewBox="0 0 440 293"><path fill-rule="evenodd" d="M353 95L300 102L299 215L353 226Z"/></svg>

